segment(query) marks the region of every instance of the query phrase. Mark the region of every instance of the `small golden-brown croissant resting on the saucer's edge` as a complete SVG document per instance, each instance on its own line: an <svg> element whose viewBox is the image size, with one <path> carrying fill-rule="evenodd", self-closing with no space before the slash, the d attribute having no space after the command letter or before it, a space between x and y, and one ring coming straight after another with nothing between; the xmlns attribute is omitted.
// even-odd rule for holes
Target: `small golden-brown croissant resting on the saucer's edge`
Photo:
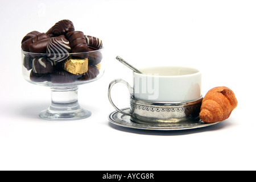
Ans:
<svg viewBox="0 0 256 182"><path fill-rule="evenodd" d="M217 86L210 89L203 98L199 117L206 123L223 121L229 118L237 103L237 98L231 89Z"/></svg>

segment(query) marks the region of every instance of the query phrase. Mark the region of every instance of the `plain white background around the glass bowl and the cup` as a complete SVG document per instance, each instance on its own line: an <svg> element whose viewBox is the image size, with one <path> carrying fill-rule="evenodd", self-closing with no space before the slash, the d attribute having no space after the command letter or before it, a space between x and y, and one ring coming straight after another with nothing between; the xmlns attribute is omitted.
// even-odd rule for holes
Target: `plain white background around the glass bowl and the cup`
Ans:
<svg viewBox="0 0 256 182"><path fill-rule="evenodd" d="M9 170L255 170L255 1L0 1L0 169ZM61 19L101 38L105 75L79 86L77 121L38 117L50 89L25 81L20 42ZM203 95L228 86L238 106L226 121L195 130L151 131L115 126L109 82L136 67L185 65L203 72ZM113 100L129 106L123 85Z"/></svg>

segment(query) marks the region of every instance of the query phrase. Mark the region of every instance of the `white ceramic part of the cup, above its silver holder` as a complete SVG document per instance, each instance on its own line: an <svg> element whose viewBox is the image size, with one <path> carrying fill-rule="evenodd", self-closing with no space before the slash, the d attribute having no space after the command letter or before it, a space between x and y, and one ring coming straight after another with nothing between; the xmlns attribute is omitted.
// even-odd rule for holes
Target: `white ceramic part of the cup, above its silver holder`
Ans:
<svg viewBox="0 0 256 182"><path fill-rule="evenodd" d="M201 72L189 67L147 67L133 73L134 98L187 102L201 97Z"/></svg>

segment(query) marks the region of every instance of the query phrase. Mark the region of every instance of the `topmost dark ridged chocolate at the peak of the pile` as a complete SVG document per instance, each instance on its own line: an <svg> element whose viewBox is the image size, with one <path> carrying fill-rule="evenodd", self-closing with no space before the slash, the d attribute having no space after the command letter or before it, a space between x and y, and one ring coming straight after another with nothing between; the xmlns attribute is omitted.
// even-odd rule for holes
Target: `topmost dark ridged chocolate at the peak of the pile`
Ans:
<svg viewBox="0 0 256 182"><path fill-rule="evenodd" d="M71 20L63 19L55 23L46 34L53 34L53 36L66 35L67 32L75 31L75 27Z"/></svg>

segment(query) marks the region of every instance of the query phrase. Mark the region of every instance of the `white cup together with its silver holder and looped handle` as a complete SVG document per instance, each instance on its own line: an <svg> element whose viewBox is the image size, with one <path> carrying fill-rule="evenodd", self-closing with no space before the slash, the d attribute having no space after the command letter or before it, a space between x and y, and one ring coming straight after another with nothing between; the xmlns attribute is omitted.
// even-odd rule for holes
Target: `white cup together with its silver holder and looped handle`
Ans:
<svg viewBox="0 0 256 182"><path fill-rule="evenodd" d="M109 84L109 101L122 114L138 123L199 121L201 72L188 67L141 68L133 73L133 88L122 79ZM121 82L130 92L130 112L118 109L111 97L112 87Z"/></svg>

